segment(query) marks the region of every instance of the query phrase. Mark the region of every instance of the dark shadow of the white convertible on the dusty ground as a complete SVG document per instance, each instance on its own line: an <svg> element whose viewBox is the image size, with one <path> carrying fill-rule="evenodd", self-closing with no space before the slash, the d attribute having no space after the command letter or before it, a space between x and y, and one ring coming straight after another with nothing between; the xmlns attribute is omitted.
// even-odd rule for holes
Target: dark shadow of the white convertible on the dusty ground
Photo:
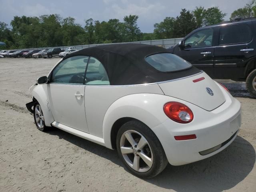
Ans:
<svg viewBox="0 0 256 192"><path fill-rule="evenodd" d="M52 128L48 134L57 135L60 139L124 167L116 150L110 150L57 128ZM228 148L210 158L184 166L168 164L161 174L145 181L177 192L221 192L233 188L244 180L253 169L255 160L253 146L244 138L237 136ZM124 169L126 170L125 167Z"/></svg>

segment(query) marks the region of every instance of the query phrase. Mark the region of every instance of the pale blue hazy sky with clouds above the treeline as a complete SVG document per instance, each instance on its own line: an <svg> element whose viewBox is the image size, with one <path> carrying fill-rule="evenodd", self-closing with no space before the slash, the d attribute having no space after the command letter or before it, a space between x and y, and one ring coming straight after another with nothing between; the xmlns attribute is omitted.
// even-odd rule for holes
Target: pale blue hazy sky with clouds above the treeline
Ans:
<svg viewBox="0 0 256 192"><path fill-rule="evenodd" d="M63 18L71 16L84 26L84 20L89 18L100 22L112 18L123 21L124 16L136 14L140 30L150 33L154 31L155 23L168 16L178 16L182 8L194 10L196 6L218 6L227 13L225 19L229 20L234 10L248 2L250 0L0 0L0 22L10 28L14 16L60 14Z"/></svg>

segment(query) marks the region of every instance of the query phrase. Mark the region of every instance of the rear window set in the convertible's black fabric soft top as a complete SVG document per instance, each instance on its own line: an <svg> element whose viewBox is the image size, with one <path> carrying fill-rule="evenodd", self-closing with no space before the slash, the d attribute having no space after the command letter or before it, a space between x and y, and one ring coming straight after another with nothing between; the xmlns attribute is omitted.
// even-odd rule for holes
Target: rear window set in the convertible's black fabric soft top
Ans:
<svg viewBox="0 0 256 192"><path fill-rule="evenodd" d="M171 53L158 53L145 58L151 66L161 72L174 72L192 67L186 60Z"/></svg>

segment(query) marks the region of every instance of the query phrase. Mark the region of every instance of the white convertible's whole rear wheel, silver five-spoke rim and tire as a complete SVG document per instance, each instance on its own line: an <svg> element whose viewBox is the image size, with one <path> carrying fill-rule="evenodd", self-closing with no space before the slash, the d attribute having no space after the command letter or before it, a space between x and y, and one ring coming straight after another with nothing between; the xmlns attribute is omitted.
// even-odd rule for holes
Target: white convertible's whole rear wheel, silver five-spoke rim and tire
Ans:
<svg viewBox="0 0 256 192"><path fill-rule="evenodd" d="M116 147L124 165L135 176L152 178L168 164L164 149L154 132L137 120L118 130Z"/></svg>

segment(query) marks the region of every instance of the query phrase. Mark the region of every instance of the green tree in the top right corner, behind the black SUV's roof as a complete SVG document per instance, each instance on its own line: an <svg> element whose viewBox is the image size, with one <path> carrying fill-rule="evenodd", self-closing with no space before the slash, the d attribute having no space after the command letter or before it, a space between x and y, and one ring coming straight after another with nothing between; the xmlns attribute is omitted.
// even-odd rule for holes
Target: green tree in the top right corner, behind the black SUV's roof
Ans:
<svg viewBox="0 0 256 192"><path fill-rule="evenodd" d="M247 3L243 8L239 8L232 12L230 16L230 20L235 20L236 18L248 18L248 17L255 17L256 16L256 4L255 0L250 1Z"/></svg>

